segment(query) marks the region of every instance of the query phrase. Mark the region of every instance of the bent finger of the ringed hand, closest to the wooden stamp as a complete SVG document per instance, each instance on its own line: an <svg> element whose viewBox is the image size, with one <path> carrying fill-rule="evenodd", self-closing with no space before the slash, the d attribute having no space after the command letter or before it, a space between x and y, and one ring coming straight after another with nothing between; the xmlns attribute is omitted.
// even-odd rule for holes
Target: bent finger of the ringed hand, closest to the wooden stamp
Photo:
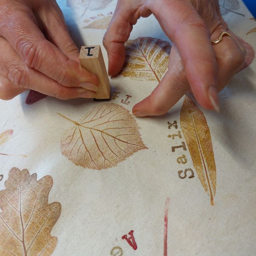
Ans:
<svg viewBox="0 0 256 256"><path fill-rule="evenodd" d="M119 0L113 18L103 38L103 45L108 52L108 74L116 75L125 62L124 44L130 37L133 25L140 17L148 17L151 12L142 0Z"/></svg>

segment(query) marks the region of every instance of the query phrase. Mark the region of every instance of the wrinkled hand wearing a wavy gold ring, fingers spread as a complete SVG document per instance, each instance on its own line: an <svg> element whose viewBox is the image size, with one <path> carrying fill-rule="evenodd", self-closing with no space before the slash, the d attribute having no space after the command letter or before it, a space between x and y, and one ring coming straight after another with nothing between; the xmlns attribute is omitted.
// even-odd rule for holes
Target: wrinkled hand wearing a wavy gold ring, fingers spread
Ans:
<svg viewBox="0 0 256 256"><path fill-rule="evenodd" d="M150 96L133 108L135 116L162 115L192 90L205 109L219 111L218 91L244 64L246 51L220 14L218 0L119 0L104 36L109 74L125 61L124 43L140 17L153 15L173 42L169 70ZM220 44L212 45L221 32Z"/></svg>

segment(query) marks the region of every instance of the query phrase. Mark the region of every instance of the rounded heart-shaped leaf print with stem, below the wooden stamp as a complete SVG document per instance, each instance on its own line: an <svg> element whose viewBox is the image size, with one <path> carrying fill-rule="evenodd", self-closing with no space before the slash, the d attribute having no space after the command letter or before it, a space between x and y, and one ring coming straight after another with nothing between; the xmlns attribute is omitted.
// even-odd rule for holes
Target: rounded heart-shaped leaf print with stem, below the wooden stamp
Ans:
<svg viewBox="0 0 256 256"><path fill-rule="evenodd" d="M107 169L117 166L135 152L146 149L139 127L129 111L114 103L94 107L61 140L61 153L77 166Z"/></svg>

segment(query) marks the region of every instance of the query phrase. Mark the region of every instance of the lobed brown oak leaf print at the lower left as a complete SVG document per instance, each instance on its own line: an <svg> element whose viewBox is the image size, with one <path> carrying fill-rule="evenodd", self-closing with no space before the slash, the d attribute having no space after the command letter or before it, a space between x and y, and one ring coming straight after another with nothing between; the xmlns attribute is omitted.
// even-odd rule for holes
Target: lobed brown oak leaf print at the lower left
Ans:
<svg viewBox="0 0 256 256"><path fill-rule="evenodd" d="M52 227L61 214L61 204L48 204L52 177L37 181L37 175L12 168L6 190L0 191L0 255L49 256L58 239Z"/></svg>

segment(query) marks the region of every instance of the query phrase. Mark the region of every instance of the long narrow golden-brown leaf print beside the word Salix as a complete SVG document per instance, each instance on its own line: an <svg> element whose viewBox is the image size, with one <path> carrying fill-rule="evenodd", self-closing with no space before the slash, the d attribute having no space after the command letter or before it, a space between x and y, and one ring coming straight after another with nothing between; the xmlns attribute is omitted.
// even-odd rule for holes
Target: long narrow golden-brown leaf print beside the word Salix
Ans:
<svg viewBox="0 0 256 256"><path fill-rule="evenodd" d="M213 205L216 189L216 167L212 149L212 139L204 113L195 102L185 96L180 125L189 147L194 168Z"/></svg>

